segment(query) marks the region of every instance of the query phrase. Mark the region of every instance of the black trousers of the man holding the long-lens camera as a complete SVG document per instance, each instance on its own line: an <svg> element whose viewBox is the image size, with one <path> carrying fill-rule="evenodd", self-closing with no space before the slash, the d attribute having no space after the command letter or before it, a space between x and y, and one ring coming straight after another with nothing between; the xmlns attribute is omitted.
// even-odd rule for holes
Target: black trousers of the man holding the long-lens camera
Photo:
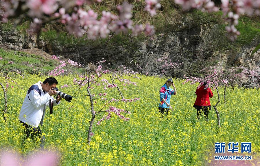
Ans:
<svg viewBox="0 0 260 166"><path fill-rule="evenodd" d="M43 149L45 137L44 137L42 131L40 130L39 126L37 128L33 127L33 126L29 126L28 124L22 122L21 120L20 120L20 123L24 127L24 133L26 134L26 139L31 138L35 141L36 137L40 137L40 142L41 142L40 147Z"/></svg>

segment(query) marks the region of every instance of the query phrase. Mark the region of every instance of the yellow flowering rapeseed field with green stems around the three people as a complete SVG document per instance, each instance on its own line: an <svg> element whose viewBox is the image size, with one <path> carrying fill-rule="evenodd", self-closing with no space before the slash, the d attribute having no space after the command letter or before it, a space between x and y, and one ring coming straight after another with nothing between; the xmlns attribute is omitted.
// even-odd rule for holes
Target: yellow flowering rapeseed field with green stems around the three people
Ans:
<svg viewBox="0 0 260 166"><path fill-rule="evenodd" d="M23 140L23 127L18 120L19 111L28 88L46 77L40 75L9 74L12 81L8 87L7 121L0 117L0 147L11 148L22 156L37 150L39 141ZM182 84L184 80L175 79L177 95L172 96L172 110L167 117L160 118L158 111L159 90L166 79L144 77L133 79L137 86L123 86L119 82L124 98L140 98L136 102L111 102L130 111L129 121L121 120L112 114L110 120L100 125L95 119L90 146L87 143L87 131L91 119L90 102L86 96L86 87L73 88L73 75L56 77L57 87L73 96L72 102L64 99L54 107L53 114L47 113L41 130L46 140L45 148L60 153L60 165L215 165L214 152L216 142L251 142L252 161L248 164L260 165L260 91L259 89L228 88L224 103L224 88L220 87L221 102L217 106L220 112L221 128L217 127L215 110L209 111L209 121L196 119L196 109L192 106L196 100L197 85ZM0 82L5 80L1 78ZM116 88L92 89L95 95L106 92L106 98L120 99ZM213 90L211 105L217 102L217 92ZM3 90L0 91L0 110L4 109ZM96 100L95 109L104 105L104 100Z"/></svg>

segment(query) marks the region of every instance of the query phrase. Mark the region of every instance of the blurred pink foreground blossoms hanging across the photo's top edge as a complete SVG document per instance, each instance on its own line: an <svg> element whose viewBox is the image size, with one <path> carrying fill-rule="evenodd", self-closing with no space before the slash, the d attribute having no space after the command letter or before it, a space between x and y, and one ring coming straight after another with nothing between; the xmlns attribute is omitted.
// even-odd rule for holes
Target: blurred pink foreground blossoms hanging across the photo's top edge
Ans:
<svg viewBox="0 0 260 166"><path fill-rule="evenodd" d="M116 1L117 2L117 1ZM212 0L174 0L183 10L197 9L202 12L217 12L219 7ZM238 24L239 16L242 14L260 14L260 1L257 0L221 0L221 9L228 25L226 31L231 40L236 40L240 32L235 26ZM7 22L9 17L27 15L33 18L28 32L37 31L42 23L60 22L65 24L69 33L75 36L88 34L88 39L97 37L107 38L110 33L127 33L132 31L136 36L143 32L145 35L154 34L154 27L146 25L133 25L132 4L123 2L115 4L118 15L109 11L102 11L102 16L98 16L92 9L85 11L84 4L91 5L101 3L101 0L77 0L77 1L59 1L59 0L20 0L20 1L1 1L0 19ZM136 3L136 1L134 2ZM145 8L151 16L156 14L156 10L161 8L159 0L145 0ZM142 9L139 9L142 10ZM99 19L98 19L99 18ZM21 20L21 18L19 18Z"/></svg>

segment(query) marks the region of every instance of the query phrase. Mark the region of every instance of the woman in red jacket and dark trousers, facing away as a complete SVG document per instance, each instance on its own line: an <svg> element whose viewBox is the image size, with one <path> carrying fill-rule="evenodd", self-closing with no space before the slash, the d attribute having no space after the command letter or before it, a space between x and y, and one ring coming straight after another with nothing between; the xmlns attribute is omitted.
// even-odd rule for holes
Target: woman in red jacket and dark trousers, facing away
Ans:
<svg viewBox="0 0 260 166"><path fill-rule="evenodd" d="M207 82L204 82L203 85L199 87L195 93L197 95L197 98L193 107L197 109L197 118L198 120L200 119L199 115L202 110L204 111L204 115L206 117L206 120L208 121L208 108L211 110L209 98L212 98L213 93L211 92L211 89L208 88Z"/></svg>

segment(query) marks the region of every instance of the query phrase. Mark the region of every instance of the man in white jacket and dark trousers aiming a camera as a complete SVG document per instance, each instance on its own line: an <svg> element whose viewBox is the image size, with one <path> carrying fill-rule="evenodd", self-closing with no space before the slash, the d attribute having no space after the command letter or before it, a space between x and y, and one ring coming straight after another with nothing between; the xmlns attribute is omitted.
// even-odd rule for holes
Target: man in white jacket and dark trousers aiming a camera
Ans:
<svg viewBox="0 0 260 166"><path fill-rule="evenodd" d="M56 94L56 90L53 90L53 88L57 84L58 81L55 78L49 77L43 83L39 81L32 85L27 91L19 114L19 120L25 127L26 139L39 136L41 138L41 148L44 147L45 137L42 136L39 124L43 125L46 107L52 109L52 106L60 104L60 96L57 96L56 100L52 97L52 95Z"/></svg>

